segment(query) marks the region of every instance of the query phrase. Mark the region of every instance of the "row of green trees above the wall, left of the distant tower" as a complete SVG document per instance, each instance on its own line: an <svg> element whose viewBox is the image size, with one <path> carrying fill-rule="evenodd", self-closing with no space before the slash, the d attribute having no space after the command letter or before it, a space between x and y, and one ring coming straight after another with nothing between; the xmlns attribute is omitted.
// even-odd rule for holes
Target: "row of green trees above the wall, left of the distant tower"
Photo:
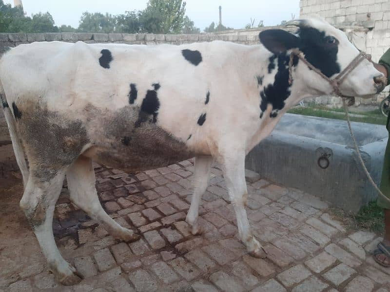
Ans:
<svg viewBox="0 0 390 292"><path fill-rule="evenodd" d="M89 32L89 33L155 33L198 34L200 30L185 16L186 2L182 0L149 0L142 11L126 11L111 15L84 12L78 28L57 27L49 12L25 17L23 9L11 7L0 0L0 32Z"/></svg>

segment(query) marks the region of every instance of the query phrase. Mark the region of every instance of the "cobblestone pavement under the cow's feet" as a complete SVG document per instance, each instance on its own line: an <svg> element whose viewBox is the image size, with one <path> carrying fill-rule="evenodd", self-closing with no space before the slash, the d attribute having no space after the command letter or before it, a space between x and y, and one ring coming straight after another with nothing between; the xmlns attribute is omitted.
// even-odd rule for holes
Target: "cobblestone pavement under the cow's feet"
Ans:
<svg viewBox="0 0 390 292"><path fill-rule="evenodd" d="M114 240L69 201L64 184L54 233L62 255L85 279L70 287L57 284L32 232L21 230L19 236L17 230L17 251L7 252L8 257L33 251L0 261L0 292L390 291L390 269L370 256L381 238L347 231L327 213L328 204L312 195L248 171L248 217L268 252L268 258L257 259L237 240L235 215L217 167L200 207L201 236L191 235L184 221L192 196L192 161L135 175L99 165L95 172L105 210L141 239L130 244Z"/></svg>

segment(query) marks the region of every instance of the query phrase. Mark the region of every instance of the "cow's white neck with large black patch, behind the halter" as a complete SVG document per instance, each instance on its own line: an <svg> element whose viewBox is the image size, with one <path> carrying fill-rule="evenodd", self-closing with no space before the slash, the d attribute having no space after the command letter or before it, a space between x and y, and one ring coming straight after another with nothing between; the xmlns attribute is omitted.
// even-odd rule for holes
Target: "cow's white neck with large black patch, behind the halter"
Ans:
<svg viewBox="0 0 390 292"><path fill-rule="evenodd" d="M290 86L289 55L275 56L261 45L251 46L248 51L241 67L241 82L249 89L247 98L250 103L259 109L257 130L248 139L247 150L250 151L272 132L285 112L300 100L319 96L321 92L305 86L299 80ZM304 65L298 63L297 66Z"/></svg>

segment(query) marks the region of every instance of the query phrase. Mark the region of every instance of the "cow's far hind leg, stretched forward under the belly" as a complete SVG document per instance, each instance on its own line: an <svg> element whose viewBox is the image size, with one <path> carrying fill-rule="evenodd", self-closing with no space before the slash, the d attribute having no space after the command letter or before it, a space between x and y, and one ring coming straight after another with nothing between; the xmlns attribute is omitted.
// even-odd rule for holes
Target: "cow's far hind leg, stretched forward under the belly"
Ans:
<svg viewBox="0 0 390 292"><path fill-rule="evenodd" d="M66 172L71 200L84 210L92 219L98 220L115 238L135 241L139 235L120 226L101 207L95 188L95 172L92 160L80 156Z"/></svg>

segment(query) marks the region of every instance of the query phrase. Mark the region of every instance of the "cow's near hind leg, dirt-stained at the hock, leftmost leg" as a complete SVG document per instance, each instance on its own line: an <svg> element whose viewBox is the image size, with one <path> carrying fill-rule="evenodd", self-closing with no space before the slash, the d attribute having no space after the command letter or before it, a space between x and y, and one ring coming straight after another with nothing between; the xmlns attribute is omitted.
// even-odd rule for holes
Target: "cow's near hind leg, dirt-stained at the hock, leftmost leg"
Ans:
<svg viewBox="0 0 390 292"><path fill-rule="evenodd" d="M48 269L61 284L77 284L81 278L76 269L61 256L53 236L53 213L64 180L64 172L58 171L53 178L42 182L34 177L34 169L30 170L20 207L33 227L46 257Z"/></svg>

